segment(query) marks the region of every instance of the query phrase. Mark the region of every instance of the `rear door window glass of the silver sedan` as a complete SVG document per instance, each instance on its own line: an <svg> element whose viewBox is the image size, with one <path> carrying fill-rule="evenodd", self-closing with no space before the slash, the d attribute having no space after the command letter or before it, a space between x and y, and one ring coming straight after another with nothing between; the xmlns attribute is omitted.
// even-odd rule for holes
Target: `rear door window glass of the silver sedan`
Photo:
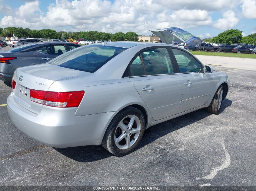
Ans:
<svg viewBox="0 0 256 191"><path fill-rule="evenodd" d="M142 58L142 60L141 60ZM173 74L174 70L166 48L149 49L136 57L130 65L130 76Z"/></svg>

